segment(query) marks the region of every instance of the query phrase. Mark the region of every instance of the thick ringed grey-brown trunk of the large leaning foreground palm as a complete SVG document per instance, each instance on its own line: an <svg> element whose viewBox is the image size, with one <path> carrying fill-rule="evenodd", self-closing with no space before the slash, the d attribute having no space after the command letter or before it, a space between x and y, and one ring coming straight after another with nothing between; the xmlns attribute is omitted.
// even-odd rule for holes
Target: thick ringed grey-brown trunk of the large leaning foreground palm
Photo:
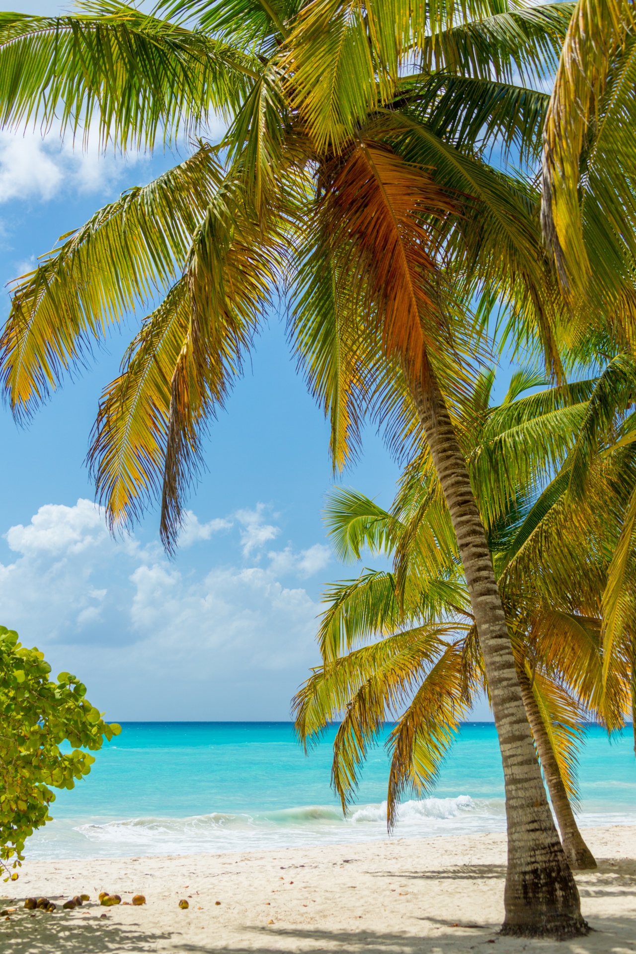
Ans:
<svg viewBox="0 0 636 954"><path fill-rule="evenodd" d="M502 752L508 829L502 933L580 937L588 927L547 803L497 579L462 448L432 371L425 382L418 379L410 385L457 536Z"/></svg>

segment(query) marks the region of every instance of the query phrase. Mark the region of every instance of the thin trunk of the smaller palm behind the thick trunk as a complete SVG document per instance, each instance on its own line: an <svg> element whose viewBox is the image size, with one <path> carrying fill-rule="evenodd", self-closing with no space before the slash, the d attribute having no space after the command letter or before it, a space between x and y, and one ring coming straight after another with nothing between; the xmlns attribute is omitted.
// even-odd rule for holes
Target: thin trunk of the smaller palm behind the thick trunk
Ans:
<svg viewBox="0 0 636 954"><path fill-rule="evenodd" d="M532 735L534 736L537 752L544 769L544 778L552 801L552 808L557 817L561 838L564 844L565 858L570 868L576 871L586 871L596 868L597 864L591 851L585 844L583 836L574 818L574 812L567 798L564 779L559 769L559 763L554 755L550 737L545 731L544 720L539 712L537 700L532 692L532 686L527 674L518 672L519 685L522 690L525 714L528 717Z"/></svg>

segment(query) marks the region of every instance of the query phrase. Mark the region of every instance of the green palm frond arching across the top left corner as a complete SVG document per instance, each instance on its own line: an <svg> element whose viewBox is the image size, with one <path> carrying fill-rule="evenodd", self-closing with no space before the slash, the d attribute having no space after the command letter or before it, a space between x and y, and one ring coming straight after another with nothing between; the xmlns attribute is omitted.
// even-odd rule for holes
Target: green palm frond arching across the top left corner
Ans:
<svg viewBox="0 0 636 954"><path fill-rule="evenodd" d="M59 124L103 146L152 149L227 119L260 73L256 57L123 3L74 16L0 14L0 122Z"/></svg>

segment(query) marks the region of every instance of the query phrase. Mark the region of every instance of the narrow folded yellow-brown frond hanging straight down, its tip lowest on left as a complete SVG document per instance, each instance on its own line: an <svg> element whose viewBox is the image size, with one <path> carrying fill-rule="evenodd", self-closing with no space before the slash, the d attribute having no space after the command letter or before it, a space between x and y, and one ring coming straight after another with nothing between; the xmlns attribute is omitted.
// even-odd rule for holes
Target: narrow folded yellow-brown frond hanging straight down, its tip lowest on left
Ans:
<svg viewBox="0 0 636 954"><path fill-rule="evenodd" d="M161 496L161 539L174 550L201 430L223 405L282 270L279 233L260 223L224 182L196 230L185 275L192 315L174 368Z"/></svg>

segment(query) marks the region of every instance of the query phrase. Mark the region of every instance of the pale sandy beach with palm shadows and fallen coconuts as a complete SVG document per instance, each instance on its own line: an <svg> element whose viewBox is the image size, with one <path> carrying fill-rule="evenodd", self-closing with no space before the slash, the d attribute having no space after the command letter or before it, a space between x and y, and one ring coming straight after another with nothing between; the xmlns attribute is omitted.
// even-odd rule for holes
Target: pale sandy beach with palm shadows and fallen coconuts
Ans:
<svg viewBox="0 0 636 954"><path fill-rule="evenodd" d="M0 952L636 952L636 827L591 828L585 839L599 861L597 872L577 875L593 931L562 944L498 937L505 841L497 834L224 855L30 861L19 881L0 887L5 898L21 904L30 895L47 896L61 903L86 892L92 902L34 917L20 906L9 921L0 920ZM100 907L101 890L124 901L141 892L148 902ZM178 908L181 898L189 901L188 910Z"/></svg>

